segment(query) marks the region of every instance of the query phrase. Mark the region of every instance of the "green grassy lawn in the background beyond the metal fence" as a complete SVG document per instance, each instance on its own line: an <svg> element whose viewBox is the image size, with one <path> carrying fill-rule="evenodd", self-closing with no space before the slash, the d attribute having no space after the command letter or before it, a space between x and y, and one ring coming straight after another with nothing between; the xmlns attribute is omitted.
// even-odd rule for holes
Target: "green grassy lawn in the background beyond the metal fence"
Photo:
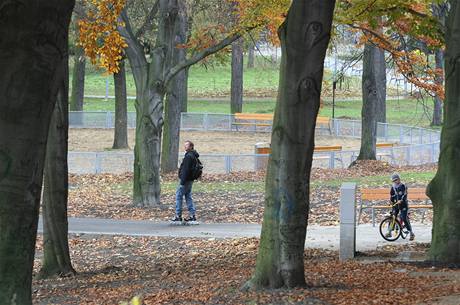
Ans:
<svg viewBox="0 0 460 305"><path fill-rule="evenodd" d="M189 72L189 112L199 113L229 113L229 90L230 90L230 65L220 65L206 68L203 65L195 65ZM326 71L326 79L328 72ZM89 67L85 79L86 95L105 95L106 80L109 83L109 95L113 95L113 77L105 76L94 67ZM274 63L258 59L254 69L247 69L244 72L244 88L247 96L263 97L275 96L279 80L278 66ZM358 78L350 78L344 82L344 89L352 87L354 91L359 89ZM327 88L325 88L327 89ZM131 73L127 73L127 90L129 96L135 95L134 80ZM356 92L359 92L357 90ZM268 94L270 93L270 94ZM329 92L330 93L330 92ZM328 94L329 94L328 93ZM268 95L267 95L268 94ZM206 98L197 98L197 97ZM216 97L220 97L217 98ZM360 119L361 100L338 101L335 103L335 117ZM244 100L243 112L251 113L272 113L275 109L275 98L256 99L247 97ZM102 99L86 99L85 111L114 111L114 101ZM128 101L128 110L135 111L134 101ZM332 102L326 98L320 115L332 117ZM427 100L420 102L416 100L400 99L387 101L387 120L389 123L404 123L412 126L429 127L432 115L432 102Z"/></svg>

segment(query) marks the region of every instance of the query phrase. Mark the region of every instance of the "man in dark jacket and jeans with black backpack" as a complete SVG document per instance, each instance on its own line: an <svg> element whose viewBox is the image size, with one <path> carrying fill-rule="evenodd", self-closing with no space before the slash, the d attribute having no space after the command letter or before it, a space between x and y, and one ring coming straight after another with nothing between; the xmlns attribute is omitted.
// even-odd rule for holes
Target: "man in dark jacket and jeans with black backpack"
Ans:
<svg viewBox="0 0 460 305"><path fill-rule="evenodd" d="M192 199L192 185L194 177L194 168L196 167L198 152L194 149L192 141L185 141L185 156L179 167L179 186L176 190L176 216L172 219L173 222L182 222L182 202L185 197L189 216L184 221L196 221L195 205Z"/></svg>

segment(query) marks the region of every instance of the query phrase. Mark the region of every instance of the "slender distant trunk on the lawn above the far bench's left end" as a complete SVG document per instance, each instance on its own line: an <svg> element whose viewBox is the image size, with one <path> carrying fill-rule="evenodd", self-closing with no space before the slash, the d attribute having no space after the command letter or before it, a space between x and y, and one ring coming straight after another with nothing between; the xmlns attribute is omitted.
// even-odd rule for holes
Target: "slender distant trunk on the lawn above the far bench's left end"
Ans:
<svg viewBox="0 0 460 305"><path fill-rule="evenodd" d="M243 112L243 38L232 43L231 113Z"/></svg>

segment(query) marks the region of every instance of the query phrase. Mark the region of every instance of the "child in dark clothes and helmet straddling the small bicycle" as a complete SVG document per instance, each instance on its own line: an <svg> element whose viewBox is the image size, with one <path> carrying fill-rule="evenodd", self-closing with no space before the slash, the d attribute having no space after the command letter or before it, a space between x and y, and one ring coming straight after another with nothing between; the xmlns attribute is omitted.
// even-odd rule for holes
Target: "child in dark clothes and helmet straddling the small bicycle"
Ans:
<svg viewBox="0 0 460 305"><path fill-rule="evenodd" d="M407 204L407 188L404 183L401 182L399 174L394 173L391 176L393 185L390 190L390 201L395 204L393 206L393 213L398 216L401 212L400 218L406 224L407 230L410 232L410 240L414 240L415 234L412 232L412 226L410 225L409 219L407 218L407 211L409 206ZM391 234L390 232L387 235Z"/></svg>

